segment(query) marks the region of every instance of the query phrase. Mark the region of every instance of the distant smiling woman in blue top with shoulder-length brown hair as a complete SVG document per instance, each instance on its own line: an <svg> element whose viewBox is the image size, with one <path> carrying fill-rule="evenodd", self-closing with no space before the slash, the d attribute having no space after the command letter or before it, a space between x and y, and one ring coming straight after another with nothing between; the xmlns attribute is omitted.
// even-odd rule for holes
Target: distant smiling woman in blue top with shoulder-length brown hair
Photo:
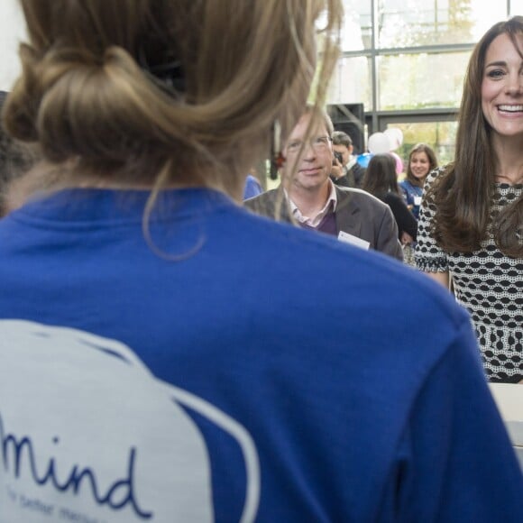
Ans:
<svg viewBox="0 0 523 523"><path fill-rule="evenodd" d="M428 173L436 167L436 154L427 143L417 143L408 153L407 175L399 182L399 188L416 219L419 219L425 180Z"/></svg>

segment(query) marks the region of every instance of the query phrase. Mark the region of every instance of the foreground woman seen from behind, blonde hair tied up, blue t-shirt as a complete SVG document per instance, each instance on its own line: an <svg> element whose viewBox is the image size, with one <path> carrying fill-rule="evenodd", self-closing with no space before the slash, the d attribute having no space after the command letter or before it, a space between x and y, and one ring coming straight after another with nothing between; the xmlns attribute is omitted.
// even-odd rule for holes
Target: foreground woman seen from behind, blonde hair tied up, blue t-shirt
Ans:
<svg viewBox="0 0 523 523"><path fill-rule="evenodd" d="M341 2L22 6L4 120L41 161L0 221L0 521L516 521L463 310L241 206L317 51L325 102Z"/></svg>

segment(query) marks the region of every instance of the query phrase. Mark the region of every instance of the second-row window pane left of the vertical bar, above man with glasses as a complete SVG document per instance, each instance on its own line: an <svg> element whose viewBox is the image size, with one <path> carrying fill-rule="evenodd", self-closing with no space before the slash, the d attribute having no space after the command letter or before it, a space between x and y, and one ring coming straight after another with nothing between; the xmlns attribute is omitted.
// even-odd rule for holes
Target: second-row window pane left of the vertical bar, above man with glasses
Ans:
<svg viewBox="0 0 523 523"><path fill-rule="evenodd" d="M363 104L372 110L371 60L365 57L338 60L327 99L331 104Z"/></svg>

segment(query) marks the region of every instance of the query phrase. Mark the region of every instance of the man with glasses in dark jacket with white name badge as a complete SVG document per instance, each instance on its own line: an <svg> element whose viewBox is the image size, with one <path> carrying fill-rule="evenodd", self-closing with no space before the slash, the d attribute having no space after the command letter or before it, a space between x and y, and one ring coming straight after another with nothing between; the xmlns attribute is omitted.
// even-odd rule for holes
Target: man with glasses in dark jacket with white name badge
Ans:
<svg viewBox="0 0 523 523"><path fill-rule="evenodd" d="M309 129L311 121L314 126ZM332 234L363 249L403 260L398 227L390 207L356 188L336 187L329 178L334 161L333 123L325 111L306 112L283 151L280 188L245 202L252 211L303 228Z"/></svg>

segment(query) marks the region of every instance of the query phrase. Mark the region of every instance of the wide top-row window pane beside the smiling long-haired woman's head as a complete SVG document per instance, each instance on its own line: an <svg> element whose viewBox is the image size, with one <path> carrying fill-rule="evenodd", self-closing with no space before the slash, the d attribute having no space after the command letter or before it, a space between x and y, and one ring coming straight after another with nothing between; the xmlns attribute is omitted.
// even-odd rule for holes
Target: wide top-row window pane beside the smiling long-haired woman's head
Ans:
<svg viewBox="0 0 523 523"><path fill-rule="evenodd" d="M492 23L506 17L506 2L382 0L378 47L474 43Z"/></svg>

